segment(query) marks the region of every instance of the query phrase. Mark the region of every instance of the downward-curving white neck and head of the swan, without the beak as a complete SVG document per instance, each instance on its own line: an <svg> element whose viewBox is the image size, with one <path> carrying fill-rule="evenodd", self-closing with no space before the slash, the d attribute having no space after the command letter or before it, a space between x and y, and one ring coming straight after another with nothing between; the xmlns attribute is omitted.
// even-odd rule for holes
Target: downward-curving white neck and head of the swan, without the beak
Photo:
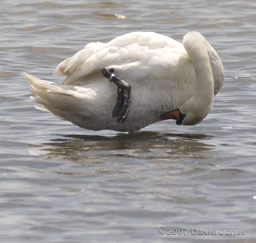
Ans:
<svg viewBox="0 0 256 243"><path fill-rule="evenodd" d="M180 106L180 112L186 114L183 125L195 125L212 109L214 78L206 43L206 39L198 32L190 32L183 38L183 46L195 70L196 80L194 95Z"/></svg>

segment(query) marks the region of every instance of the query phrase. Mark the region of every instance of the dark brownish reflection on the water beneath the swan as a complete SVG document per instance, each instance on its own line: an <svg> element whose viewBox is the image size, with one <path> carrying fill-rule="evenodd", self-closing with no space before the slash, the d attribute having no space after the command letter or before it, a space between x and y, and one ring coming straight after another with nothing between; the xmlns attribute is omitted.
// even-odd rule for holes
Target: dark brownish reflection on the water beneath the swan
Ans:
<svg viewBox="0 0 256 243"><path fill-rule="evenodd" d="M63 159L75 163L104 163L108 159L181 160L201 156L214 148L199 142L211 136L203 134L160 134L141 132L115 137L66 135L42 144L37 154L46 159Z"/></svg>

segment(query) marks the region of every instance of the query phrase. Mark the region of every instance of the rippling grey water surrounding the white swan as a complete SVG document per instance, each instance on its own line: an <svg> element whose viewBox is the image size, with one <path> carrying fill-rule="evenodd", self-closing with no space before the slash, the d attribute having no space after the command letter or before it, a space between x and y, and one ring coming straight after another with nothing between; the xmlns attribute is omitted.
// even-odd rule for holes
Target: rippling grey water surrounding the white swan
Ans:
<svg viewBox="0 0 256 243"><path fill-rule="evenodd" d="M2 1L0 242L255 242L255 10L250 0ZM127 135L34 109L21 72L61 82L54 68L86 43L138 30L178 41L197 30L217 50L225 84L202 123Z"/></svg>

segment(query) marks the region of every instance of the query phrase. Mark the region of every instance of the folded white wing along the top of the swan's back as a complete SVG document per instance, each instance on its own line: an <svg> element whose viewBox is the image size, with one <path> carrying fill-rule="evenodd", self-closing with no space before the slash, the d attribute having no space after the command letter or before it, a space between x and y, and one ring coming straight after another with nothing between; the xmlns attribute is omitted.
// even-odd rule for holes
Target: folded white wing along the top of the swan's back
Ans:
<svg viewBox="0 0 256 243"><path fill-rule="evenodd" d="M73 57L61 62L54 74L67 75L63 84L81 85L93 82L100 70L111 65L126 65L139 59L139 53L164 47L180 49L180 42L154 32L133 32L110 42L89 43ZM183 49L183 48L182 48Z"/></svg>

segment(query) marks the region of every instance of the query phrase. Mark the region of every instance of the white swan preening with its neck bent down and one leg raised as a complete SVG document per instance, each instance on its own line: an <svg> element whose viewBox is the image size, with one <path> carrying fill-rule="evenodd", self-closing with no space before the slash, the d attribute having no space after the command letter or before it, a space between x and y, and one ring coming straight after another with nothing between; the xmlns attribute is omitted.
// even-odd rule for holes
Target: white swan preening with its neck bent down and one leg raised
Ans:
<svg viewBox="0 0 256 243"><path fill-rule="evenodd" d="M224 83L222 61L196 31L182 43L154 32L89 43L55 69L62 84L23 75L39 109L81 128L130 133L167 119L201 122Z"/></svg>

